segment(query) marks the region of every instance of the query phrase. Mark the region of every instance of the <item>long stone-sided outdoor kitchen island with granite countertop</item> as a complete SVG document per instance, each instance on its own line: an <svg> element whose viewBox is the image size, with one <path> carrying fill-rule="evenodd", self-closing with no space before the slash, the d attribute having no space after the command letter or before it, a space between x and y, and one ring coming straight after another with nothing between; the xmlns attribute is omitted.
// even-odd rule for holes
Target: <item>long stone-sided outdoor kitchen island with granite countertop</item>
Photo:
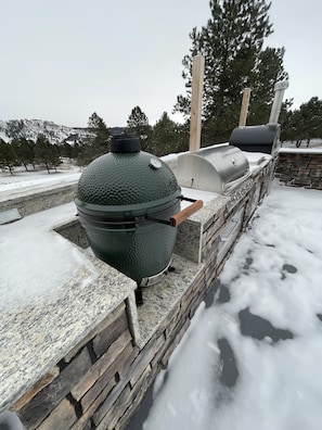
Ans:
<svg viewBox="0 0 322 430"><path fill-rule="evenodd" d="M275 160L247 156L250 175L229 194L204 194L204 207L179 226L170 268L143 288L139 307L134 281L77 246L74 203L1 226L18 246L14 227L35 223L51 251L75 261L65 267L61 258L65 279L43 295L1 307L1 410L14 410L27 429L126 428L269 190ZM176 159L169 164L176 174ZM66 225L62 238L56 231ZM34 240L43 244L41 235ZM46 254L29 258L41 266ZM27 268L37 279L39 266Z"/></svg>

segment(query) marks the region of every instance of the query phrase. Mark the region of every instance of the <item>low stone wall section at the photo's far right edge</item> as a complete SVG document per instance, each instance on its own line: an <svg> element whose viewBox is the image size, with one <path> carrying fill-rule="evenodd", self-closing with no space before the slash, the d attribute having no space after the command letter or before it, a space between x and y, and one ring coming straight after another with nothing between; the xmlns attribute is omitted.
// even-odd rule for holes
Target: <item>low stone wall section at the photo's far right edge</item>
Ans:
<svg viewBox="0 0 322 430"><path fill-rule="evenodd" d="M280 151L275 177L286 185L322 190L322 152Z"/></svg>

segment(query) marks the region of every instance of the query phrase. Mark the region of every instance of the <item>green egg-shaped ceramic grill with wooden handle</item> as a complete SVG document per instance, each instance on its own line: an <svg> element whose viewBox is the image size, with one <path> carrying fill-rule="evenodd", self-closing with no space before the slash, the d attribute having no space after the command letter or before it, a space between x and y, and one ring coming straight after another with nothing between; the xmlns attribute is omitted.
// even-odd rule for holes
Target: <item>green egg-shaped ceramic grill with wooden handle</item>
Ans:
<svg viewBox="0 0 322 430"><path fill-rule="evenodd" d="M140 284L168 266L177 226L202 206L180 212L182 199L169 166L120 135L80 176L75 204L93 253Z"/></svg>

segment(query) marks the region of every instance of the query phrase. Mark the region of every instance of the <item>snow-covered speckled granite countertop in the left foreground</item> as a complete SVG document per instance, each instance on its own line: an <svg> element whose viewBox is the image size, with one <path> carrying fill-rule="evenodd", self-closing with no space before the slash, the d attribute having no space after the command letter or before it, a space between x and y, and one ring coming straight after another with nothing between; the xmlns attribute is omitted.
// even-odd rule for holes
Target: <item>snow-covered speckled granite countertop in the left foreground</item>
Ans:
<svg viewBox="0 0 322 430"><path fill-rule="evenodd" d="M53 231L74 214L70 203L0 226L0 412L121 301L136 314L136 282Z"/></svg>

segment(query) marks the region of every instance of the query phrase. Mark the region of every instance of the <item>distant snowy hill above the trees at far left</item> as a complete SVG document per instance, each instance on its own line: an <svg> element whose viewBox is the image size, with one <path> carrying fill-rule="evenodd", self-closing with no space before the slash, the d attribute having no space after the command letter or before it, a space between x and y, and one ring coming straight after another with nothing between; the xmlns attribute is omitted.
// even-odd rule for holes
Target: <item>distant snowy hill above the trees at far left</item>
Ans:
<svg viewBox="0 0 322 430"><path fill-rule="evenodd" d="M116 135L124 130L123 127L111 128L111 134ZM91 134L85 127L67 127L51 121L42 119L10 119L0 121L0 138L5 142L12 139L25 138L36 142L38 135L43 135L51 143L79 142Z"/></svg>

